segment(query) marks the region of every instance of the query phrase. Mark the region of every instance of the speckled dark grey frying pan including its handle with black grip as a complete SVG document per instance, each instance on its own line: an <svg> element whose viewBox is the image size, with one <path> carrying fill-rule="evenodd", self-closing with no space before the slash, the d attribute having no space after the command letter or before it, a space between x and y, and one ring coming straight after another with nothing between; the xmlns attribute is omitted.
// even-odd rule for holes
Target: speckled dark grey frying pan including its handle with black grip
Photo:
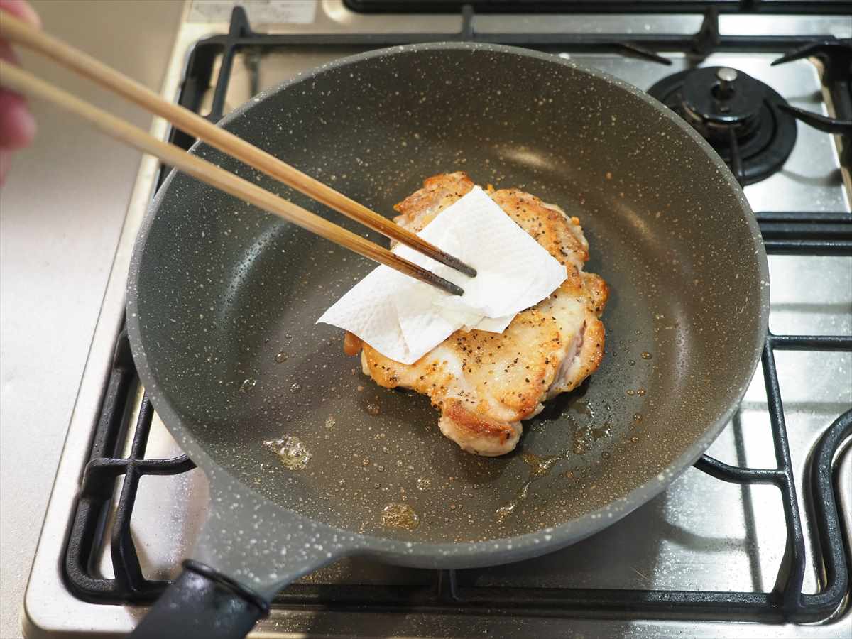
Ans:
<svg viewBox="0 0 852 639"><path fill-rule="evenodd" d="M421 44L322 66L222 126L389 215L453 170L560 204L612 290L607 354L514 454L469 455L425 397L377 387L342 331L315 324L371 262L172 172L135 246L130 343L211 510L136 636L243 636L286 584L341 556L459 568L572 544L694 463L745 392L769 304L757 224L711 147L629 84L526 49ZM193 153L364 232L211 147ZM270 440L290 446L289 467Z"/></svg>

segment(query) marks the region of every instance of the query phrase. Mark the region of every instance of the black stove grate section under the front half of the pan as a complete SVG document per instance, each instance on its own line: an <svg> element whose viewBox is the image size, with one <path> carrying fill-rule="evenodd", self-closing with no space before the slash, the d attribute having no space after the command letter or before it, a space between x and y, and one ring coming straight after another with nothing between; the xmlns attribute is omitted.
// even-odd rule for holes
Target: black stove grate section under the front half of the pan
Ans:
<svg viewBox="0 0 852 639"><path fill-rule="evenodd" d="M808 251L803 251L809 254ZM452 570L435 571L429 586L293 584L276 599L278 605L323 604L335 609L397 606L406 609L473 612L477 608L504 611L523 608L541 614L630 613L644 617L667 613L691 619L787 619L799 622L826 619L841 606L849 585L846 550L832 480L832 461L844 440L852 436L852 410L843 413L821 436L810 459L807 500L813 517L803 521L796 496L784 407L780 395L775 352L783 350L852 352L852 337L770 335L763 349L763 379L768 397L777 467L755 469L731 466L707 455L695 468L720 481L771 484L782 497L786 529L786 561L780 567L780 589L772 592L713 592L700 590L592 590L484 588L460 586ZM66 579L79 597L95 602L150 602L169 585L142 576L130 535L130 519L139 481L144 475L177 475L193 469L185 455L145 459L153 406L144 397L135 423L130 455L121 457L128 431L127 406L138 383L126 332L118 336L112 374L95 431L90 461L83 473L77 513L66 549ZM115 577L95 576L92 560L101 538L105 515L112 504L116 480L124 475L110 534ZM816 561L825 567L825 579L816 594L802 592L805 573L803 525L815 530L819 544Z"/></svg>

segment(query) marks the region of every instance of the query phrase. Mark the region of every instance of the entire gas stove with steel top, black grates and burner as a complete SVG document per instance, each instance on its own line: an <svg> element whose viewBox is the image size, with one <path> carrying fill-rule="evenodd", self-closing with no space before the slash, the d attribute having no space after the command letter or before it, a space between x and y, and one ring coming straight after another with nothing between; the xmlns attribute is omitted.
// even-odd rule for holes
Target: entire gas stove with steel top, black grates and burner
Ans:
<svg viewBox="0 0 852 639"><path fill-rule="evenodd" d="M164 95L211 120L326 61L402 43L526 46L623 78L731 166L772 281L763 366L728 429L667 492L532 561L338 561L281 593L252 636L852 634L849 7L568 4L580 13L533 0L187 3ZM673 5L684 13L666 13ZM193 142L161 121L153 133ZM123 331L133 241L165 173L143 159L32 567L29 637L123 636L204 521L204 474L153 412Z"/></svg>

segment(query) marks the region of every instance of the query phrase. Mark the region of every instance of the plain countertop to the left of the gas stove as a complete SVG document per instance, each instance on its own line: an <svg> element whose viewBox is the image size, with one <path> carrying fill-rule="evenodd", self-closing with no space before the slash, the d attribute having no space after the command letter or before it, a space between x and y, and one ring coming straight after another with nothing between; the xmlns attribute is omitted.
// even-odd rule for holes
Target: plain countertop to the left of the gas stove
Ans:
<svg viewBox="0 0 852 639"><path fill-rule="evenodd" d="M182 0L33 0L44 28L159 89ZM19 51L23 64L147 129L144 112ZM20 608L141 155L33 104L35 143L0 190L0 637Z"/></svg>

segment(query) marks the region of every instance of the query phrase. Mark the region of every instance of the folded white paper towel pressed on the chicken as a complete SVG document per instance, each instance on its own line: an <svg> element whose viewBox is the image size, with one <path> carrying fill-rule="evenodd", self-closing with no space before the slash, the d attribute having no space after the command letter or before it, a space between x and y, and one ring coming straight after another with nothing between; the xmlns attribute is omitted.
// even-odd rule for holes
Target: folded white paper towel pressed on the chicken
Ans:
<svg viewBox="0 0 852 639"><path fill-rule="evenodd" d="M417 235L475 268L476 277L404 245L394 253L458 284L463 296L379 266L317 322L339 326L391 360L413 364L458 329L504 331L515 314L541 302L567 277L565 267L480 187Z"/></svg>

